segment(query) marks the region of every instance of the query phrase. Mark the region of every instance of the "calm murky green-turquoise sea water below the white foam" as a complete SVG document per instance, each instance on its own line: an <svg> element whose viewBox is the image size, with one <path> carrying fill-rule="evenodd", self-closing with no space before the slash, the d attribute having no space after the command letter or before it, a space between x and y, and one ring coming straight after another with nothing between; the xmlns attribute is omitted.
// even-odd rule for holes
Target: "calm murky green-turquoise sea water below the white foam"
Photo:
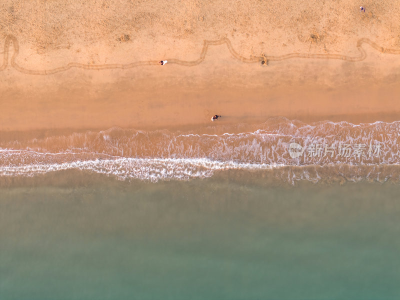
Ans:
<svg viewBox="0 0 400 300"><path fill-rule="evenodd" d="M400 186L389 182L23 180L0 187L2 300L400 294Z"/></svg>

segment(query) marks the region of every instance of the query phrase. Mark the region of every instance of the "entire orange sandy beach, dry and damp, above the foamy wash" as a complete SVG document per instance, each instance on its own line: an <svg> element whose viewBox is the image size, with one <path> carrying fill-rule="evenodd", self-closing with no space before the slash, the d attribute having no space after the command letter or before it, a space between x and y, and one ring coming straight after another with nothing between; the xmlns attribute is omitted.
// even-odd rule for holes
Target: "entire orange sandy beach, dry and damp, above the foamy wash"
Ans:
<svg viewBox="0 0 400 300"><path fill-rule="evenodd" d="M215 113L218 124L398 120L399 4L3 0L0 137L196 127Z"/></svg>

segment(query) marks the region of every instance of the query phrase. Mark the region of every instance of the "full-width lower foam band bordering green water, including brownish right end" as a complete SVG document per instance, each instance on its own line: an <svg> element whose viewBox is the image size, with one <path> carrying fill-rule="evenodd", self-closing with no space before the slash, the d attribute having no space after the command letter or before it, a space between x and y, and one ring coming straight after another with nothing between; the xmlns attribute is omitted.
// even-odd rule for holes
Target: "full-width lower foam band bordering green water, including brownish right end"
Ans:
<svg viewBox="0 0 400 300"><path fill-rule="evenodd" d="M141 179L157 182L159 180L189 180L211 177L216 171L272 170L273 176L294 184L298 180L318 182L320 179L343 179L359 181L370 179L386 181L400 180L400 164L361 164L328 163L323 165L305 164L266 164L218 161L208 158L133 158L75 160L62 163L31 163L18 166L0 166L1 176L33 177L38 174L63 170L82 170L114 176L119 180ZM277 173L275 173L277 171ZM259 176L259 175L256 175ZM263 176L263 175L262 175Z"/></svg>

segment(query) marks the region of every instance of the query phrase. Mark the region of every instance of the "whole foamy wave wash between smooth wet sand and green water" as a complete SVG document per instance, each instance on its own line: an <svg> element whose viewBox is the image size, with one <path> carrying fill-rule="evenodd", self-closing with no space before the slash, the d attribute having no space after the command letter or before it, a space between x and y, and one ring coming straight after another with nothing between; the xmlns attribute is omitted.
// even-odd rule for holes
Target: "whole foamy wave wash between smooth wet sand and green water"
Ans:
<svg viewBox="0 0 400 300"><path fill-rule="evenodd" d="M41 139L0 141L0 176L80 169L118 179L157 181L212 176L224 170L281 180L400 180L400 121L305 124L283 117L258 125L195 131L110 128ZM296 155L289 145L297 145Z"/></svg>

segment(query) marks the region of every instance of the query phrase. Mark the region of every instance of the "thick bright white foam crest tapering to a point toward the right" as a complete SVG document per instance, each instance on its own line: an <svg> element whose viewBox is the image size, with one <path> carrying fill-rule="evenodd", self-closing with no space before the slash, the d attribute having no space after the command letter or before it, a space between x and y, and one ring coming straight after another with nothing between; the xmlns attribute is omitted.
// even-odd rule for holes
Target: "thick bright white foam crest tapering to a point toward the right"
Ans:
<svg viewBox="0 0 400 300"><path fill-rule="evenodd" d="M262 170L284 166L283 164L238 163L207 158L133 158L93 159L63 163L33 163L19 166L1 166L0 176L34 176L51 171L68 169L89 170L115 175L118 179L138 178L150 181L159 179L183 179L210 177L217 170Z"/></svg>

